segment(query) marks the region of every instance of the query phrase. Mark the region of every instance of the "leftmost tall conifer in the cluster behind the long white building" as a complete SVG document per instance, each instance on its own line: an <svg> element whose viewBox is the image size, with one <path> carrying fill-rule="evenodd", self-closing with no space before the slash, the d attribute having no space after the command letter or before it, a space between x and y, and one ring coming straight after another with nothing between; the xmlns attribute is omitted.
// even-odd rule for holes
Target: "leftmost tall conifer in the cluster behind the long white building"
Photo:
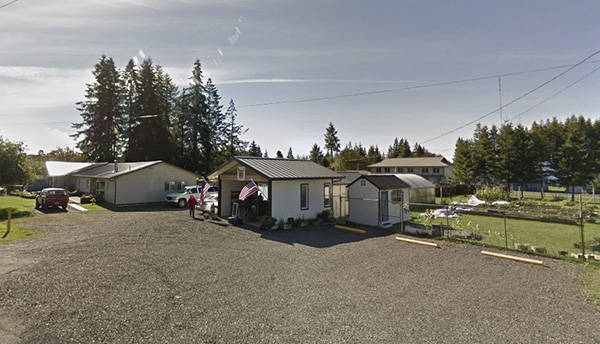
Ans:
<svg viewBox="0 0 600 344"><path fill-rule="evenodd" d="M73 124L77 132L72 137L81 138L77 148L91 160L113 161L122 150L122 82L113 59L105 55L92 74L94 82L86 87L86 100L77 103L82 122Z"/></svg>

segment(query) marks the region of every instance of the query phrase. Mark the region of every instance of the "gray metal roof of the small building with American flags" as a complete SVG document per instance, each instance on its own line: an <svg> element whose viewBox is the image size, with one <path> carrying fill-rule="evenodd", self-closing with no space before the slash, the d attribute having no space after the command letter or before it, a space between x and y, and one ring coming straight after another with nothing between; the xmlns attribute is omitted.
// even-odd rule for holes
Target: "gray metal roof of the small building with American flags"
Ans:
<svg viewBox="0 0 600 344"><path fill-rule="evenodd" d="M310 160L274 159L248 156L236 156L233 160L253 169L267 179L338 179L343 177ZM228 163L225 163L222 167L226 166ZM219 174L219 170L213 172L211 175L213 174Z"/></svg>

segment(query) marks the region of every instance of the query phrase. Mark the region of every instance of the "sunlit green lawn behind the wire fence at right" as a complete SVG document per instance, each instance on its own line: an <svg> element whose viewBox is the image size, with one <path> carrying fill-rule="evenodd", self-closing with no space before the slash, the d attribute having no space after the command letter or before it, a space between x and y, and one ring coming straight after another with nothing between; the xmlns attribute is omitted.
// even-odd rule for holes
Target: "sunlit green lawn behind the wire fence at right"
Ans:
<svg viewBox="0 0 600 344"><path fill-rule="evenodd" d="M412 222L424 224L427 220L419 216L419 212L412 212ZM446 225L445 218L434 219L431 224ZM504 247L504 222L502 218L460 215L459 218L450 219L452 228L468 230L483 236L481 243ZM545 247L548 254L559 256L559 251L581 252L573 244L580 242L578 226L558 223L545 223L540 221L507 219L508 247L514 248L515 243L529 244ZM600 237L600 225L586 223L584 227L586 242Z"/></svg>

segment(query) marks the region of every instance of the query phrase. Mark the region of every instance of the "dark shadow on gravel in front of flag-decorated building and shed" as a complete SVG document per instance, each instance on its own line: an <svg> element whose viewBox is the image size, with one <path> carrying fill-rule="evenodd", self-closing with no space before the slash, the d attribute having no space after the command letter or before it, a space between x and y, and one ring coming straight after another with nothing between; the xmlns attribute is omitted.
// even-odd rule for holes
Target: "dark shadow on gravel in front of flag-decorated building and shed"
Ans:
<svg viewBox="0 0 600 344"><path fill-rule="evenodd" d="M263 239L289 245L300 244L315 248L331 247L396 234L395 231L387 229L369 229L367 233L361 234L337 229L333 226L314 226L274 231L258 230L249 227L244 227L244 229L260 233Z"/></svg>

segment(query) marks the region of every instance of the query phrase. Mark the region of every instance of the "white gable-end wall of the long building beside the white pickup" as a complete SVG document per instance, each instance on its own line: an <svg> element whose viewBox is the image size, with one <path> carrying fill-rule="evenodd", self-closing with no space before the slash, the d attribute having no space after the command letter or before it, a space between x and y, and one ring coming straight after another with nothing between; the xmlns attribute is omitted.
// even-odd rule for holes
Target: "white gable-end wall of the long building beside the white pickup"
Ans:
<svg viewBox="0 0 600 344"><path fill-rule="evenodd" d="M117 182L117 205L162 202L168 191L165 182L184 181L186 185L196 184L196 175L178 167L160 163L139 171L115 178ZM105 200L114 203L112 198Z"/></svg>

